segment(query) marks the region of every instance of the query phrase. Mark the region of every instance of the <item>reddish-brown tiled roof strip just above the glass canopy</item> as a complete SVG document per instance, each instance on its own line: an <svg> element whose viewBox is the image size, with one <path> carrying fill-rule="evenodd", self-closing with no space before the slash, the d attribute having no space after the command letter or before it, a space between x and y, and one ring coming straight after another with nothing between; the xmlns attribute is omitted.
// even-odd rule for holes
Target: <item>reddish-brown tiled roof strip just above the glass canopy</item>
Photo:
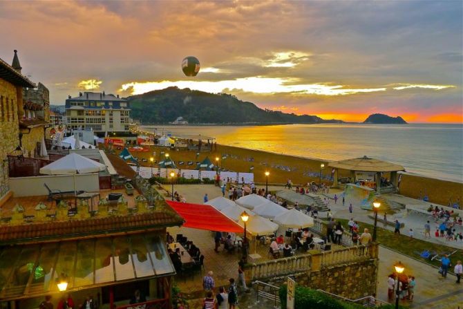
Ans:
<svg viewBox="0 0 463 309"><path fill-rule="evenodd" d="M168 207L168 206L167 206ZM169 209L168 207L167 209ZM148 212L131 216L111 216L82 220L3 225L0 227L0 245L58 241L83 236L108 236L115 233L149 230L158 227L180 226L183 218L173 211Z"/></svg>

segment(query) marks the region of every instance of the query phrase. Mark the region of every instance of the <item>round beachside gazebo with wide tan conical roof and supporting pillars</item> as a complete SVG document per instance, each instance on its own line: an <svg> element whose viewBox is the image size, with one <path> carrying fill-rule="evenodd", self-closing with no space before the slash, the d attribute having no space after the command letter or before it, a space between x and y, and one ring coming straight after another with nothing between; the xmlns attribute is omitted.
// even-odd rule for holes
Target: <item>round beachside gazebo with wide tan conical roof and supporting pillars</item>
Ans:
<svg viewBox="0 0 463 309"><path fill-rule="evenodd" d="M390 173L390 182L397 189L397 171L405 171L401 165L367 156L330 162L328 166L334 169L334 187L338 185L338 170L345 169L350 171L350 178L353 180L375 181L377 192L381 192L381 173Z"/></svg>

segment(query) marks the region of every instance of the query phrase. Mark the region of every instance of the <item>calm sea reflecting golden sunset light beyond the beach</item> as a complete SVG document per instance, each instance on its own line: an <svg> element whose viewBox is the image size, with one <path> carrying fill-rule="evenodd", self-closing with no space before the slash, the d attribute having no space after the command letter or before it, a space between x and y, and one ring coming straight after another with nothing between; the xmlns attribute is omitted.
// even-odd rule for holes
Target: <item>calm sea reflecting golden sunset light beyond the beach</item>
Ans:
<svg viewBox="0 0 463 309"><path fill-rule="evenodd" d="M321 160L368 156L406 171L463 182L463 124L284 124L142 126L169 135L201 134L218 144Z"/></svg>

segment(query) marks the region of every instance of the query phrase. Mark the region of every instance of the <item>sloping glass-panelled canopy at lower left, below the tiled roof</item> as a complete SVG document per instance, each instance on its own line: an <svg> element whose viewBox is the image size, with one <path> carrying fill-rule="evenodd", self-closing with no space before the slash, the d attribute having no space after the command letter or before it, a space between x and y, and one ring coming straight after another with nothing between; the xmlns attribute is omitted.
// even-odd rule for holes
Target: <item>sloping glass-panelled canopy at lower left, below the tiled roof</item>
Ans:
<svg viewBox="0 0 463 309"><path fill-rule="evenodd" d="M106 236L3 247L0 301L67 292L174 274L160 236L153 233Z"/></svg>

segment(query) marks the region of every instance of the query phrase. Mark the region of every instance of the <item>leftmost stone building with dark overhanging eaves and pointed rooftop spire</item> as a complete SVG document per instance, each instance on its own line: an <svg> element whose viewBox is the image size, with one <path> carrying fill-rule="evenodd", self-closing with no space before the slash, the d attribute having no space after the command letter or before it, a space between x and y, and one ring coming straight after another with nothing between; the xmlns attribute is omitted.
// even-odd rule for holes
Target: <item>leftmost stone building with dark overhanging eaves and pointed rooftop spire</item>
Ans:
<svg viewBox="0 0 463 309"><path fill-rule="evenodd" d="M23 88L35 88L21 75L21 66L15 50L13 65L0 59L0 205L8 198L8 154L21 153L19 120L23 118Z"/></svg>

